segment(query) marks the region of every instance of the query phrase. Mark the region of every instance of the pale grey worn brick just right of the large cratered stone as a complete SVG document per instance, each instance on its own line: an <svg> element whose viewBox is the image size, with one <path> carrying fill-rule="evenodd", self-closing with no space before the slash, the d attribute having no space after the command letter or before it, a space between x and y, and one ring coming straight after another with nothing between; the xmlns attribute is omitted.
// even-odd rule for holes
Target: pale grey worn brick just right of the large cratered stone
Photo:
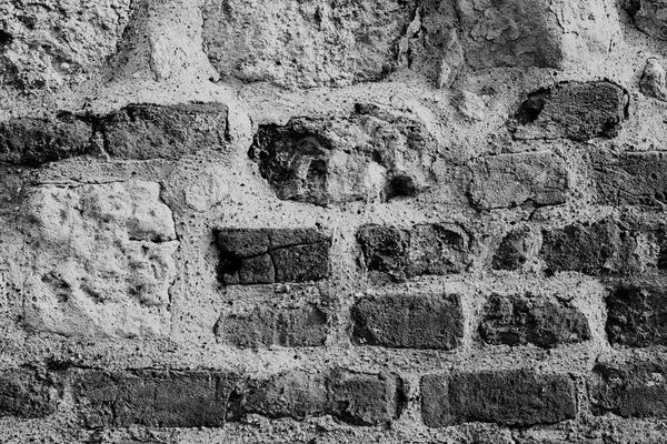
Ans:
<svg viewBox="0 0 667 444"><path fill-rule="evenodd" d="M472 162L468 195L481 210L514 208L526 203L557 205L567 199L568 172L563 160L549 151L499 154Z"/></svg>

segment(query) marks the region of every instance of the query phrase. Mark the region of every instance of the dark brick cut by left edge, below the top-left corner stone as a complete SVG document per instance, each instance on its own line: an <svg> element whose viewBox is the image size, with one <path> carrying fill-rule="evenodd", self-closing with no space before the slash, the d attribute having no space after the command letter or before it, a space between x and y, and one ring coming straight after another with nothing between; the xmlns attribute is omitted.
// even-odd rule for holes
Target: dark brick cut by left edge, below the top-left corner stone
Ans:
<svg viewBox="0 0 667 444"><path fill-rule="evenodd" d="M0 122L0 163L38 167L87 154L92 129L69 113L54 119L11 119Z"/></svg>

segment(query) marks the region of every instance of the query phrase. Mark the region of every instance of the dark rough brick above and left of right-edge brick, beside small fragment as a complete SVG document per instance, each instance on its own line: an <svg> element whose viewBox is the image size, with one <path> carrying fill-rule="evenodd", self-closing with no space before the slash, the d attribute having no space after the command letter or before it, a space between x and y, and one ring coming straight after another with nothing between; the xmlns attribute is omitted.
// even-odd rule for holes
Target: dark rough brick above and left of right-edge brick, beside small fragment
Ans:
<svg viewBox="0 0 667 444"><path fill-rule="evenodd" d="M630 271L637 241L611 219L542 232L540 256L548 270L603 274Z"/></svg>

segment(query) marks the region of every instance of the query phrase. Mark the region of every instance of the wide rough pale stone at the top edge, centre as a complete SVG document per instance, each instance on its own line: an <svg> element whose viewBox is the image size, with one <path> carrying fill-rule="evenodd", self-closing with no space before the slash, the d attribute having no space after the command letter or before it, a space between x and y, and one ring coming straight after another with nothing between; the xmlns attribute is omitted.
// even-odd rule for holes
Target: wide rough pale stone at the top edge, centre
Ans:
<svg viewBox="0 0 667 444"><path fill-rule="evenodd" d="M208 0L205 51L223 78L288 88L349 85L392 71L415 1Z"/></svg>

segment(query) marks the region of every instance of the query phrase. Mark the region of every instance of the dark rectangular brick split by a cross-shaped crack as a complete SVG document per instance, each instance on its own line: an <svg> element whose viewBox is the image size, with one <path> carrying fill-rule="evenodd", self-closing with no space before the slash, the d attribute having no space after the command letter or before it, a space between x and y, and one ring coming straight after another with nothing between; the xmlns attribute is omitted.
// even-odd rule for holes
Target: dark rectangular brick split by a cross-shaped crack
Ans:
<svg viewBox="0 0 667 444"><path fill-rule="evenodd" d="M316 229L220 229L226 285L319 281L329 275L331 240Z"/></svg>

